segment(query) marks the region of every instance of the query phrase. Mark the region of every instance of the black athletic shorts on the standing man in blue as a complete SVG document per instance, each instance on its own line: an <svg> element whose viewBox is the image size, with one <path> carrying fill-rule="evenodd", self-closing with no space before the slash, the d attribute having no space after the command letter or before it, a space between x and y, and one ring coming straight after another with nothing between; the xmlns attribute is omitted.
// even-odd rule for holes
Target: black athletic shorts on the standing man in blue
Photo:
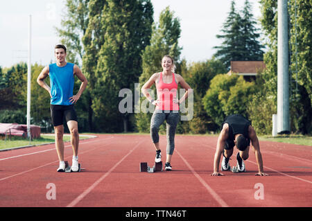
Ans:
<svg viewBox="0 0 312 221"><path fill-rule="evenodd" d="M50 105L52 125L54 127L63 125L64 119L68 121L78 121L73 105Z"/></svg>

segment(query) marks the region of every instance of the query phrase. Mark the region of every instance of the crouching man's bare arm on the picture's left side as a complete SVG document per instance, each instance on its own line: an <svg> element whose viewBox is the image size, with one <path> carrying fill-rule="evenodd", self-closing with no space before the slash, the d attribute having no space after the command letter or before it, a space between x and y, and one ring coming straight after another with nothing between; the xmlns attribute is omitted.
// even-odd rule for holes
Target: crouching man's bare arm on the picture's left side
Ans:
<svg viewBox="0 0 312 221"><path fill-rule="evenodd" d="M223 176L222 173L219 173L219 164L220 164L220 157L224 150L225 141L229 132L229 125L225 123L223 125L223 128L218 136L217 146L216 146L216 152L214 154L214 173L211 174L211 176Z"/></svg>

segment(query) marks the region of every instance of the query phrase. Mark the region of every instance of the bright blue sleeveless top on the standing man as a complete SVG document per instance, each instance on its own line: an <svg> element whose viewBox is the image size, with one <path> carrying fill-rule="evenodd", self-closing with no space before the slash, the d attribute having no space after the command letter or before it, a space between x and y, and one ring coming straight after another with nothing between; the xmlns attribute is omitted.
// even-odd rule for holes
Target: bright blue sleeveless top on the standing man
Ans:
<svg viewBox="0 0 312 221"><path fill-rule="evenodd" d="M73 64L67 62L64 67L56 63L49 64L51 87L51 105L73 105L69 98L73 96Z"/></svg>

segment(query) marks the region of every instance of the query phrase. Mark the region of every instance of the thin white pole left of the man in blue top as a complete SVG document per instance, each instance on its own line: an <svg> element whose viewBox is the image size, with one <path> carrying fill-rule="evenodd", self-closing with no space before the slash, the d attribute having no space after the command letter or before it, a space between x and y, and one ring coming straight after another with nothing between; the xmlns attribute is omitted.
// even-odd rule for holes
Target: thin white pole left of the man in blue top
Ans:
<svg viewBox="0 0 312 221"><path fill-rule="evenodd" d="M28 62L27 62L27 137L31 139L31 15L28 26Z"/></svg>

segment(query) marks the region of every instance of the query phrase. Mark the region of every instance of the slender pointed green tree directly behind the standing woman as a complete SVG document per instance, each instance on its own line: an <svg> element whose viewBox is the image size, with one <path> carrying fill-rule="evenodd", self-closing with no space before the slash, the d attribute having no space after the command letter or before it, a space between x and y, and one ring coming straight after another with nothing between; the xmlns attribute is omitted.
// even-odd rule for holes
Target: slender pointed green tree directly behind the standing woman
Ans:
<svg viewBox="0 0 312 221"><path fill-rule="evenodd" d="M140 86L143 86L153 73L161 71L161 61L164 55L171 55L173 60L175 60L175 64L178 64L182 49L178 46L180 34L179 19L174 17L174 12L169 7L166 7L159 15L159 23L153 24L150 45L146 46L142 54L143 72L139 77ZM151 89L155 91L155 85ZM143 100L145 98L141 98L141 101ZM150 117L152 114L142 112L142 107L140 108L140 113L135 114L136 126L139 132L149 132ZM160 130L165 130L163 125L160 127Z"/></svg>

